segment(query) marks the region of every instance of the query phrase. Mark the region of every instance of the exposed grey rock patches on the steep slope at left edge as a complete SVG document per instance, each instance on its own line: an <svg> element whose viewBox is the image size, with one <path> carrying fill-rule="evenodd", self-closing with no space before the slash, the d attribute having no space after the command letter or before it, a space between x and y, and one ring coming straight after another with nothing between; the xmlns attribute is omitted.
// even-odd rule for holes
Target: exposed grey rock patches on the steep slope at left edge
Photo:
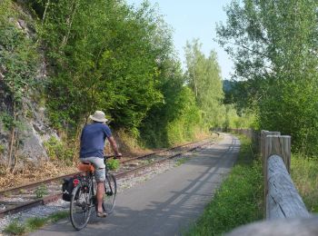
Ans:
<svg viewBox="0 0 318 236"><path fill-rule="evenodd" d="M18 19L16 28L25 32L25 37L30 37L32 30L27 23ZM0 42L1 52L1 42ZM45 56L39 52L40 64L35 76L35 89L25 91L25 96L15 109L9 93L5 90L5 68L0 65L0 164L7 164L11 156L15 160L38 162L47 159L44 142L57 134L49 126L45 110L44 85L46 77ZM41 101L43 100L43 101ZM15 117L15 118L14 118ZM15 119L15 125L12 122ZM15 127L15 128L13 128ZM14 132L15 131L15 132ZM14 136L13 136L13 133ZM13 142L14 140L15 142Z"/></svg>

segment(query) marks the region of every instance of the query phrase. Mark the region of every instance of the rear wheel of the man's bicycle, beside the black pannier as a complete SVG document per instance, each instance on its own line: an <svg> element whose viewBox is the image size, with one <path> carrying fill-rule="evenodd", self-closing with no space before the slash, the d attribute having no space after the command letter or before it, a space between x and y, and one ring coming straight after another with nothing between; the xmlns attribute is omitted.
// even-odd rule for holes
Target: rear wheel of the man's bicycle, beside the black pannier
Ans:
<svg viewBox="0 0 318 236"><path fill-rule="evenodd" d="M78 184L72 192L70 205L70 217L74 228L77 231L82 230L92 212L92 192L88 184Z"/></svg>

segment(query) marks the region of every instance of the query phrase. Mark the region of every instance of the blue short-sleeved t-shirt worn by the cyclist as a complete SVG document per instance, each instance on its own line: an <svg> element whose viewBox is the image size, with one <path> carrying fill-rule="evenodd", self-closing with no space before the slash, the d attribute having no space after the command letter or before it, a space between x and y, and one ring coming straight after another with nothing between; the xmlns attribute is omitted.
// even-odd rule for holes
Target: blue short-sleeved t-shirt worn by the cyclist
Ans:
<svg viewBox="0 0 318 236"><path fill-rule="evenodd" d="M104 123L91 123L84 126L81 134L80 157L104 157L104 141L112 132Z"/></svg>

